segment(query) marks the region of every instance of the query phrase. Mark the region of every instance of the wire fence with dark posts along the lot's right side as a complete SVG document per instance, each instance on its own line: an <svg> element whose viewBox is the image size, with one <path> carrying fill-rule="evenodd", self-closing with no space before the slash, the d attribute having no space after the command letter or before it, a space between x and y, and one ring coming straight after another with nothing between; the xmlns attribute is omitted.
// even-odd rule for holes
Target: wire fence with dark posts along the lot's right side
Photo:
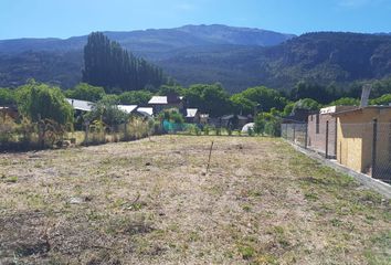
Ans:
<svg viewBox="0 0 391 265"><path fill-rule="evenodd" d="M391 183L391 123L283 124L282 137L336 159L340 165Z"/></svg>

